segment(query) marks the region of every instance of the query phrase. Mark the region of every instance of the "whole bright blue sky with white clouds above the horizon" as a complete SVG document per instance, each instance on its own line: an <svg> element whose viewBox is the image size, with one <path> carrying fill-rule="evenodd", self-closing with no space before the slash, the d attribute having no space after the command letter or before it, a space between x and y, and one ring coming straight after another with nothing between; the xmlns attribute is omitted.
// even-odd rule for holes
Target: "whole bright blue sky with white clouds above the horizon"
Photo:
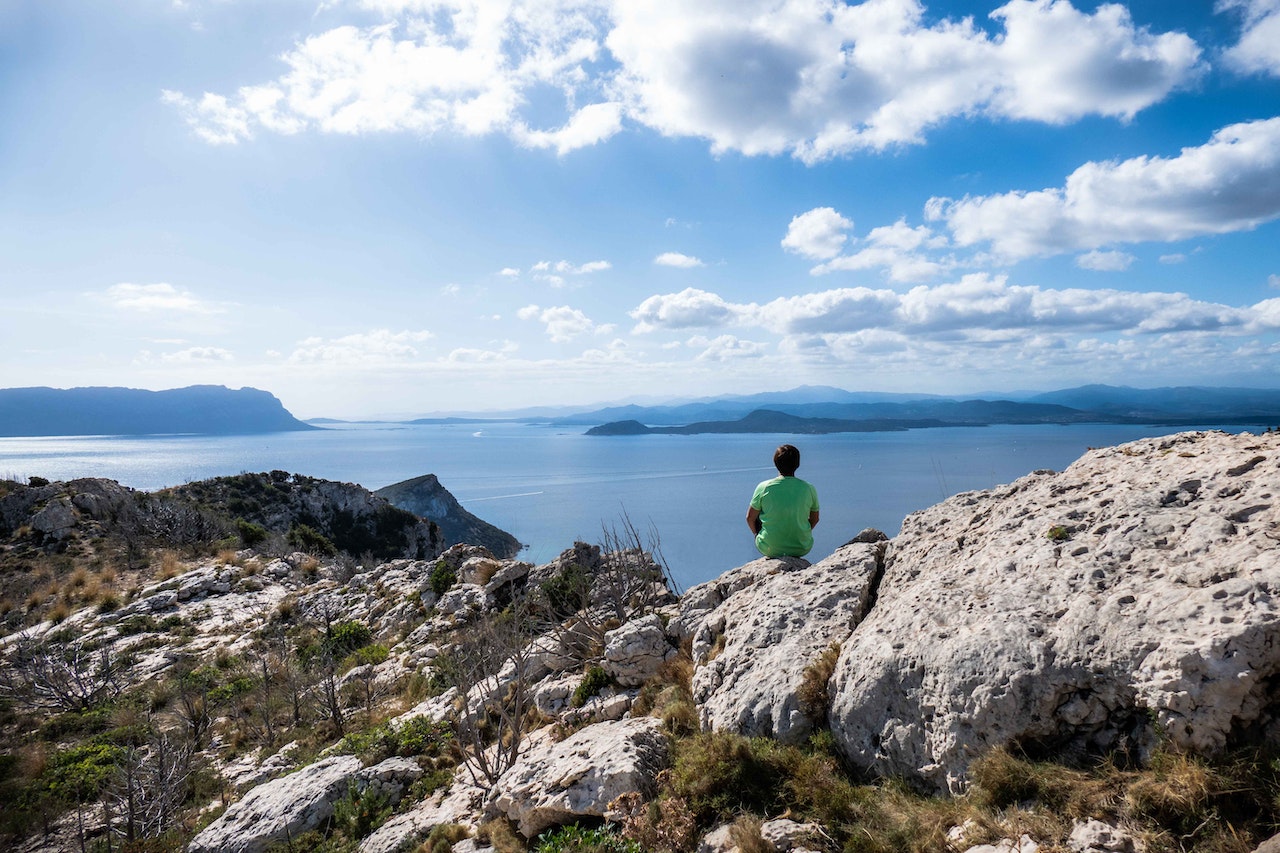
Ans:
<svg viewBox="0 0 1280 853"><path fill-rule="evenodd" d="M1280 0L0 1L0 386L1280 386Z"/></svg>

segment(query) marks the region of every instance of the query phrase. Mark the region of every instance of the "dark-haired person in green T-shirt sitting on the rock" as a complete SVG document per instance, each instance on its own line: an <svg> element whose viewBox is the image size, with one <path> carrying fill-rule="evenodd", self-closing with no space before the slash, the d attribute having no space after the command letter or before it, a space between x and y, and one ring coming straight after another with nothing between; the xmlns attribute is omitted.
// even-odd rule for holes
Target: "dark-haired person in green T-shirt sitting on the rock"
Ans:
<svg viewBox="0 0 1280 853"><path fill-rule="evenodd" d="M751 494L746 526L755 534L755 547L765 557L803 557L813 549L818 524L818 491L796 476L800 451L783 444L773 453L781 476L764 480Z"/></svg>

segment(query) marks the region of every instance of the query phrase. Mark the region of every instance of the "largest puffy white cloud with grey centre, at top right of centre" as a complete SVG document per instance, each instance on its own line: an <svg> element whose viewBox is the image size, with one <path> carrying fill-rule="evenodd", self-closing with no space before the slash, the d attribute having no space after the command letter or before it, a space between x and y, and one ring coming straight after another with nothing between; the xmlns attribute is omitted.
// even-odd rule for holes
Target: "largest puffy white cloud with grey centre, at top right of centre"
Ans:
<svg viewBox="0 0 1280 853"><path fill-rule="evenodd" d="M637 120L717 152L806 161L980 113L1128 118L1199 67L1188 36L1135 28L1117 5L1012 0L992 17L996 37L969 19L927 26L915 0L618 3L605 44Z"/></svg>

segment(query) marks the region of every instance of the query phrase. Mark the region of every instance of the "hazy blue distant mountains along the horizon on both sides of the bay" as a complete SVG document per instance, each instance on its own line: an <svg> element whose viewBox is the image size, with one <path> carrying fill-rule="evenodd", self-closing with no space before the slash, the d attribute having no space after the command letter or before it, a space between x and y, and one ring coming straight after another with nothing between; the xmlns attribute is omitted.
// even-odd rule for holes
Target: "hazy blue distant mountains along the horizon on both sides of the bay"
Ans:
<svg viewBox="0 0 1280 853"><path fill-rule="evenodd" d="M540 409L536 414L420 418L406 424L520 421L590 428L590 434L831 433L969 426L978 424L1245 424L1280 425L1280 388L1124 388L1082 386L1047 393L941 394L854 392L822 386L668 405L607 406L594 411ZM0 389L0 437L253 434L316 429L273 394L255 388L192 386Z"/></svg>

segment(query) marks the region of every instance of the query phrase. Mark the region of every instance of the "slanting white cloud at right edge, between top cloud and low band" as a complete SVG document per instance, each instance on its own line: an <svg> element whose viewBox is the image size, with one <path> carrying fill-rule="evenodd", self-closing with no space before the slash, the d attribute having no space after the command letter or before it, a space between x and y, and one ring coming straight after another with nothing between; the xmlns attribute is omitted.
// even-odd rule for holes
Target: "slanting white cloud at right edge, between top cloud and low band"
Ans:
<svg viewBox="0 0 1280 853"><path fill-rule="evenodd" d="M1007 260L1248 231L1280 216L1280 118L1231 124L1176 158L1087 163L1061 188L931 199L925 214Z"/></svg>

